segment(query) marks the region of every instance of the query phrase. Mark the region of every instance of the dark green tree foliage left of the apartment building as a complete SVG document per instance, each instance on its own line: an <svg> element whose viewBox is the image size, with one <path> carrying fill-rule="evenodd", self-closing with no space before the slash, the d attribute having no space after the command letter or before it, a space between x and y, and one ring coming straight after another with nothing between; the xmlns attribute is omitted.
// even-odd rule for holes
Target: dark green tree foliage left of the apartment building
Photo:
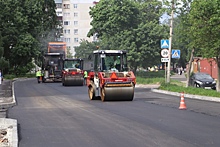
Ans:
<svg viewBox="0 0 220 147"><path fill-rule="evenodd" d="M58 24L54 0L0 1L0 20L3 57L9 61L7 72L29 71L31 66L27 65L41 53L42 37Z"/></svg>

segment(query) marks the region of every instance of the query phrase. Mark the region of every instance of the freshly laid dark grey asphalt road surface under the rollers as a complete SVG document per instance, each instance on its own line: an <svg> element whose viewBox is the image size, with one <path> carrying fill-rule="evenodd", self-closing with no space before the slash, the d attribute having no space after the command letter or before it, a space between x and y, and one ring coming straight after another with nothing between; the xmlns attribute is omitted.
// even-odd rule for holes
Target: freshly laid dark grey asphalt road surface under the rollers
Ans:
<svg viewBox="0 0 220 147"><path fill-rule="evenodd" d="M220 103L136 88L133 101L89 100L86 86L15 82L19 147L219 147Z"/></svg>

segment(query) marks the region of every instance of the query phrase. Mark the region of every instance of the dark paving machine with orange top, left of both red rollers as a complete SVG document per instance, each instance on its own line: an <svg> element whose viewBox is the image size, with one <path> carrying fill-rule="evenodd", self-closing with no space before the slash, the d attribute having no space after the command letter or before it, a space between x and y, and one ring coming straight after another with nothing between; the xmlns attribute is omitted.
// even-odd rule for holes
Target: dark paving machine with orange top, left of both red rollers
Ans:
<svg viewBox="0 0 220 147"><path fill-rule="evenodd" d="M48 51L43 55L43 82L62 81L63 60L65 57L65 42L48 42Z"/></svg>

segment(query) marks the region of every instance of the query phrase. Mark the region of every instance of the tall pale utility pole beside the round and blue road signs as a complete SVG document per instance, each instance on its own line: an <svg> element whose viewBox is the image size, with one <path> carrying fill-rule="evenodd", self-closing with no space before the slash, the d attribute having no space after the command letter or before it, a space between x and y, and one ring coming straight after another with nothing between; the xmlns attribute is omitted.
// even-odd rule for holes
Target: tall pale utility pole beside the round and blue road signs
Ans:
<svg viewBox="0 0 220 147"><path fill-rule="evenodd" d="M170 38L169 38L169 61L167 67L167 83L170 83L170 68L171 68L171 54L172 54L172 36L173 36L173 11L174 11L174 0L172 0L171 6L171 19L170 19Z"/></svg>

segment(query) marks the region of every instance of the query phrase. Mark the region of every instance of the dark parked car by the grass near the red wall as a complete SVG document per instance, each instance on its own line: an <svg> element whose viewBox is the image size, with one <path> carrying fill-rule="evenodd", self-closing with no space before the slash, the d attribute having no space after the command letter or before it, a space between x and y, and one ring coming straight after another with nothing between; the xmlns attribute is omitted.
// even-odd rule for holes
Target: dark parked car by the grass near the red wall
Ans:
<svg viewBox="0 0 220 147"><path fill-rule="evenodd" d="M190 85L204 89L216 89L216 81L207 73L197 72L190 77Z"/></svg>

